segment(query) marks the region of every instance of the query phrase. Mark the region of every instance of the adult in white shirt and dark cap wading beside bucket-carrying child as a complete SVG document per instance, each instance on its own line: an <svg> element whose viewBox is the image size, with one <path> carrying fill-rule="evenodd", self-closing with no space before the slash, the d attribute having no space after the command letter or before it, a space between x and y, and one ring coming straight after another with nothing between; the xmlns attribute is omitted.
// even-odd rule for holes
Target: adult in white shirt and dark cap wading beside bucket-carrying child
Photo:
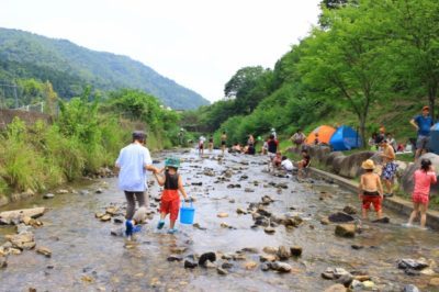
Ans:
<svg viewBox="0 0 439 292"><path fill-rule="evenodd" d="M120 170L119 188L125 192L127 202L125 235L128 237L140 231L140 226L136 226L138 222L133 221L136 201L139 207L147 207L145 200L145 191L148 189L146 171L157 171L145 143L146 134L144 132L133 132L133 142L121 150L115 162L116 169Z"/></svg>

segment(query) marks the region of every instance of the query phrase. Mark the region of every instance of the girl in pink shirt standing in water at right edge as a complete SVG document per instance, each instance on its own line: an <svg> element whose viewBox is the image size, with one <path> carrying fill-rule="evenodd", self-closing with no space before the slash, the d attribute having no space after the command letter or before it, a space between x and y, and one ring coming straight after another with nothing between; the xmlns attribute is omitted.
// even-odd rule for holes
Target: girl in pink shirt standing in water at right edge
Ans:
<svg viewBox="0 0 439 292"><path fill-rule="evenodd" d="M427 207L431 183L436 183L435 168L430 159L420 160L420 168L414 173L415 187L413 190L413 212L407 225L410 226L418 212L420 212L420 227L425 228L427 221Z"/></svg>

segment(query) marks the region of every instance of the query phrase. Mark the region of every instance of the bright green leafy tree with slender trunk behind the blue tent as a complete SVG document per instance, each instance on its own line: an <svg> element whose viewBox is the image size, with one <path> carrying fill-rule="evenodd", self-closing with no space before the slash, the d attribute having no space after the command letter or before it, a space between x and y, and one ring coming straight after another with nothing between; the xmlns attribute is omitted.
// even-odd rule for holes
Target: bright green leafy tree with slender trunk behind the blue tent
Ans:
<svg viewBox="0 0 439 292"><path fill-rule="evenodd" d="M300 63L305 83L320 89L327 98L348 102L358 116L363 142L370 106L393 82L391 58L385 54L392 41L383 37L382 26L376 24L383 12L373 1L326 11L330 29L314 30Z"/></svg>

